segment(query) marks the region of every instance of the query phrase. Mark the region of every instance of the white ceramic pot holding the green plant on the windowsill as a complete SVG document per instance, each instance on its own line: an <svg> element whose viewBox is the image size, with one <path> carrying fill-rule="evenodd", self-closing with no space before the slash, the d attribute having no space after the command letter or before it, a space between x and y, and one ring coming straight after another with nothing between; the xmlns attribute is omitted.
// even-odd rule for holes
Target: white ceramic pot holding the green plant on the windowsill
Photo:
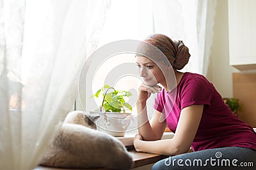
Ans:
<svg viewBox="0 0 256 170"><path fill-rule="evenodd" d="M89 114L98 114L100 118L95 121L97 130L106 132L112 136L124 136L127 131L131 118L131 113L106 112L100 113L88 111Z"/></svg>

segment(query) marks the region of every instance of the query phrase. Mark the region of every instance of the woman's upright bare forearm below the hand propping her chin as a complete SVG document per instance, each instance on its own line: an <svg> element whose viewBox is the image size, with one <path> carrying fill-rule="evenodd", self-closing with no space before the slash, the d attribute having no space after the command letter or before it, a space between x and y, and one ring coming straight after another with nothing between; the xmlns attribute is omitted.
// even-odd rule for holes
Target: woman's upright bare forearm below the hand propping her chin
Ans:
<svg viewBox="0 0 256 170"><path fill-rule="evenodd" d="M145 141L154 141L156 135L148 121L146 102L137 103L138 111L138 132Z"/></svg>

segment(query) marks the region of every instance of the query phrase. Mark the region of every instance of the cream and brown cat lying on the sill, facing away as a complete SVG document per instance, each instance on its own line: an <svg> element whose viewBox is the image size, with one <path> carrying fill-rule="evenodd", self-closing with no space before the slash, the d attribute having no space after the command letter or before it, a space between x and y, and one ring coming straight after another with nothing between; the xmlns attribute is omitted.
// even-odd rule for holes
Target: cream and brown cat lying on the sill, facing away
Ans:
<svg viewBox="0 0 256 170"><path fill-rule="evenodd" d="M107 168L126 170L132 156L121 141L96 131L93 117L83 111L68 113L41 166L62 168Z"/></svg>

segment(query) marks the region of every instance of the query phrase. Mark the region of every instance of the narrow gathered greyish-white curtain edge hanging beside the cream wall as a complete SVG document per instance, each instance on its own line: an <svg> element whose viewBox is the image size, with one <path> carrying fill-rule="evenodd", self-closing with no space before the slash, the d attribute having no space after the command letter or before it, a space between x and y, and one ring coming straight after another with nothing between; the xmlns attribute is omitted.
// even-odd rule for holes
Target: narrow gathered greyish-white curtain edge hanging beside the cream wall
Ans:
<svg viewBox="0 0 256 170"><path fill-rule="evenodd" d="M196 27L198 38L198 57L200 73L206 76L213 38L216 0L197 0Z"/></svg>

